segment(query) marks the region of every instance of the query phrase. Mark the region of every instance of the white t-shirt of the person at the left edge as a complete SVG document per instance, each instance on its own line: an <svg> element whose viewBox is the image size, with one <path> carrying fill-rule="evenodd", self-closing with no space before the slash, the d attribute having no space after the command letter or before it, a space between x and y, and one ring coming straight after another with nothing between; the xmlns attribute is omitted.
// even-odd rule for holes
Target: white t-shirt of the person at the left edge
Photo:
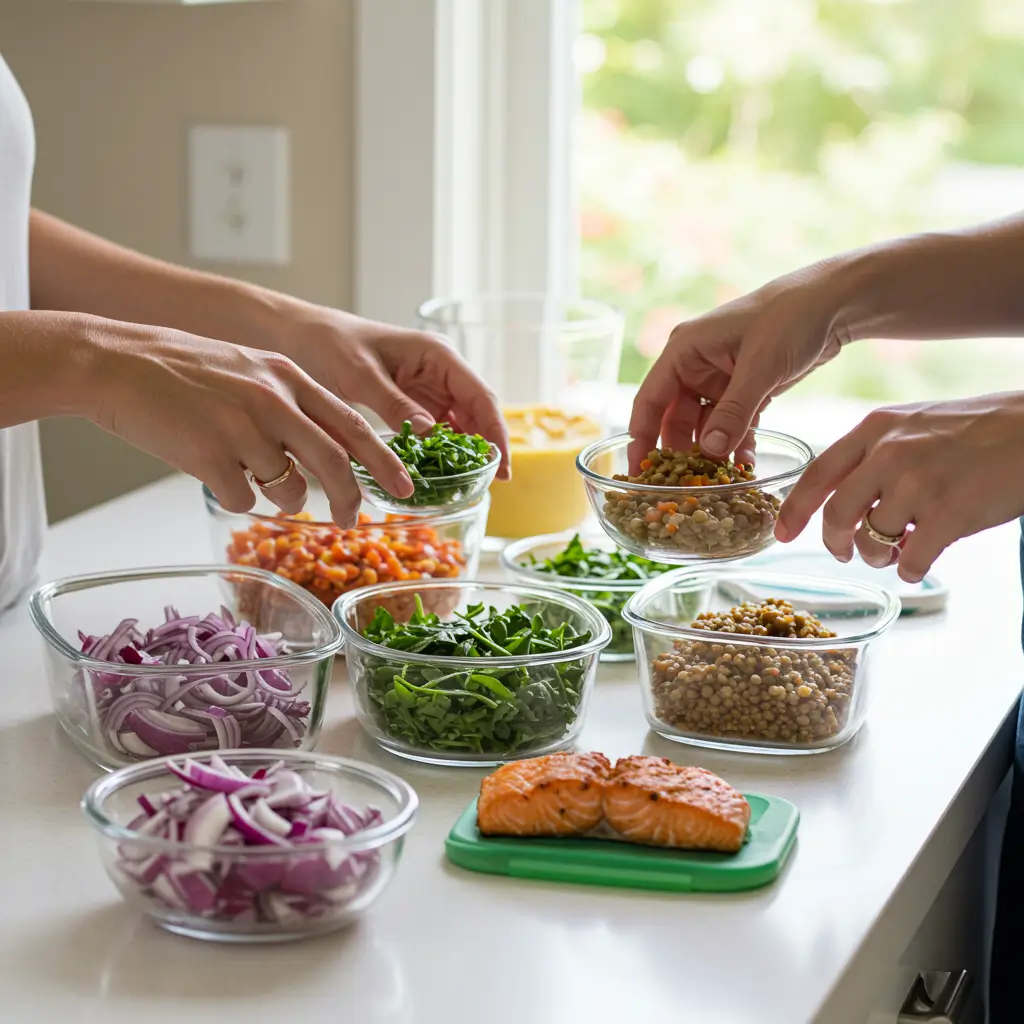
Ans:
<svg viewBox="0 0 1024 1024"><path fill-rule="evenodd" d="M0 56L0 312L29 308L32 114ZM34 582L46 529L39 426L0 430L0 609Z"/></svg>

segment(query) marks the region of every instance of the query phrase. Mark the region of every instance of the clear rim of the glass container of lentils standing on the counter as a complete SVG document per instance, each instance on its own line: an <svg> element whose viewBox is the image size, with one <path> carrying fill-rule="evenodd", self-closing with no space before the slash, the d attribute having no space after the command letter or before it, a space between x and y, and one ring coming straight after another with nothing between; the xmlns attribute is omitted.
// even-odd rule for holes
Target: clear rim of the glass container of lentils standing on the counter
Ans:
<svg viewBox="0 0 1024 1024"><path fill-rule="evenodd" d="M799 584L802 589L819 587L827 592L837 591L848 594L860 594L870 597L879 603L879 620L874 627L866 632L852 633L839 637L767 637L754 636L745 633L716 633L709 630L696 630L689 626L676 626L672 623L649 618L640 610L648 601L663 594L666 590L680 583L692 583L696 590L700 585L715 585L729 579L756 579L784 588L786 585ZM692 565L666 572L665 575L652 580L642 590L634 594L623 607L622 615L635 630L647 633L657 633L662 636L680 640L700 640L706 643L727 643L748 647L779 647L797 650L836 650L838 647L850 647L867 643L877 639L899 617L900 599L885 587L859 580L838 580L829 577L798 575L792 572L773 572L759 570L757 567L742 569L738 567L718 568L712 565Z"/></svg>

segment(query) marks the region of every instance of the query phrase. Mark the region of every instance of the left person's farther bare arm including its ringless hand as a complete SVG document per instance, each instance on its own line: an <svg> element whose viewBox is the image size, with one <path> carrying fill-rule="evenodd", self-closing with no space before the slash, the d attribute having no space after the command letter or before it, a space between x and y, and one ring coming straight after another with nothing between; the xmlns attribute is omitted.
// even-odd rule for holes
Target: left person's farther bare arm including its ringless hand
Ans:
<svg viewBox="0 0 1024 1024"><path fill-rule="evenodd" d="M497 399L444 341L152 259L39 210L32 211L30 241L34 309L92 313L281 353L394 429L406 420L426 430L453 419L483 434L505 455L499 475L510 475Z"/></svg>

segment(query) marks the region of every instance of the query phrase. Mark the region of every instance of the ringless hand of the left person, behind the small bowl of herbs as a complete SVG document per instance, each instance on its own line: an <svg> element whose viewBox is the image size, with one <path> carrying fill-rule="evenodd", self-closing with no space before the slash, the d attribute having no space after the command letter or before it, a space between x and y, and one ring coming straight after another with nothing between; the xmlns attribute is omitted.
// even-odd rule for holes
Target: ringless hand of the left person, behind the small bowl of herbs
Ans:
<svg viewBox="0 0 1024 1024"><path fill-rule="evenodd" d="M439 420L498 445L498 478L511 477L498 399L445 341L324 306L287 307L275 346L324 387L372 409L392 429L425 433Z"/></svg>

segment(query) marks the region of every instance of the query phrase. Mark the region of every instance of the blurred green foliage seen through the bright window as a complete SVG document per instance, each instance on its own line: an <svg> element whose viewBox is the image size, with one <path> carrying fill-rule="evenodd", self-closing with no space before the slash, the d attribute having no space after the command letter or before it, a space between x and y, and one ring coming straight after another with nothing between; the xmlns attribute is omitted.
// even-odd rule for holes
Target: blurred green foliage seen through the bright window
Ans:
<svg viewBox="0 0 1024 1024"><path fill-rule="evenodd" d="M623 380L675 323L797 266L1024 208L1024 4L583 0L582 288ZM853 346L800 387L878 401L1024 380L1024 343Z"/></svg>

